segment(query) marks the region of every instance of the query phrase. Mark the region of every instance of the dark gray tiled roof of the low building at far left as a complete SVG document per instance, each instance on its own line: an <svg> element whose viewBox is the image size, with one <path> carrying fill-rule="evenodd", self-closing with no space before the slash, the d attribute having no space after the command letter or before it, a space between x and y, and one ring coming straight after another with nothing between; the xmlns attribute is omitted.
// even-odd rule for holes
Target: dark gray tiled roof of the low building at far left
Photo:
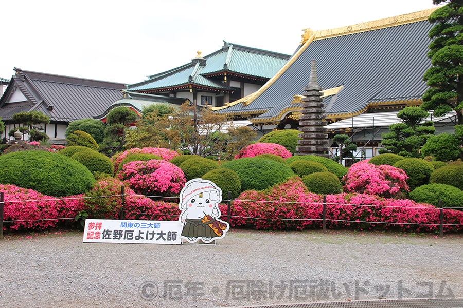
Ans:
<svg viewBox="0 0 463 308"><path fill-rule="evenodd" d="M92 118L120 99L125 88L121 83L15 70L16 75L0 99L3 120L11 120L16 112L31 110L41 111L57 122ZM19 88L28 102L6 104L13 87Z"/></svg>

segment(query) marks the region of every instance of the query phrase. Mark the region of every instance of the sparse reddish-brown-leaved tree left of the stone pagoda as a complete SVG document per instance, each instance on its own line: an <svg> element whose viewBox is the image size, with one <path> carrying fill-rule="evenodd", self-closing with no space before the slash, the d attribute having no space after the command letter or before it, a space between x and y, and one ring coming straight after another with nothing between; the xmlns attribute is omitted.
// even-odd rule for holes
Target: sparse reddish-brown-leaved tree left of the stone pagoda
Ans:
<svg viewBox="0 0 463 308"><path fill-rule="evenodd" d="M163 147L185 154L233 157L251 143L256 134L250 128L228 127L228 116L202 108L194 125L193 106L183 104L173 113L148 112L127 134L126 148ZM227 130L227 132L224 132Z"/></svg>

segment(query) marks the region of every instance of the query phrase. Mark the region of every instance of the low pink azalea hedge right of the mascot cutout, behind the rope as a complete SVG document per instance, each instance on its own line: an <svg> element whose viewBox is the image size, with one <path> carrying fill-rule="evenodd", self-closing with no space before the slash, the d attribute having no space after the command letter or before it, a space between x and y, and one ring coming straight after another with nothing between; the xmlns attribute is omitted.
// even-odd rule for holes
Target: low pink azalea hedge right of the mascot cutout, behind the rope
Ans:
<svg viewBox="0 0 463 308"><path fill-rule="evenodd" d="M231 226L255 229L307 229L322 226L323 198L304 189L298 178L267 191L248 190L231 204ZM220 205L222 214L227 206ZM290 221L291 220L291 221ZM463 230L463 211L443 209L443 229ZM328 228L394 229L436 232L439 209L406 199L368 194L326 196Z"/></svg>

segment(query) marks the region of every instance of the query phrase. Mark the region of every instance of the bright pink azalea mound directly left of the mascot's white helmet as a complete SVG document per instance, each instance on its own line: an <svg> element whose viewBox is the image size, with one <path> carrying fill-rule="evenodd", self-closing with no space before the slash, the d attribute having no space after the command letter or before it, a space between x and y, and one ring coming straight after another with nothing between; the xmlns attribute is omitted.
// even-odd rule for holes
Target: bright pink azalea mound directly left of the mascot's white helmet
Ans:
<svg viewBox="0 0 463 308"><path fill-rule="evenodd" d="M174 196L185 186L182 169L158 159L124 164L117 177L141 195Z"/></svg>

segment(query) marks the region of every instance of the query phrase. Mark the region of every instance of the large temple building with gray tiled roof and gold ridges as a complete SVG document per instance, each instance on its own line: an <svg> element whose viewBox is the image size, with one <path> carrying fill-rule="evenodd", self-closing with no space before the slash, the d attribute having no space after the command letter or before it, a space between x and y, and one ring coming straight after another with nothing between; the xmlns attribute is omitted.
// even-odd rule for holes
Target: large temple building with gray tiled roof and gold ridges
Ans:
<svg viewBox="0 0 463 308"><path fill-rule="evenodd" d="M359 155L372 157L381 147L381 132L401 121L397 112L422 104L428 88L423 74L431 67L426 54L433 24L428 16L435 9L329 30L306 29L295 53L268 82L213 109L252 122L260 135L299 129L304 87L316 60L326 128L331 136L349 134ZM432 119L436 133L453 130L455 120L455 113Z"/></svg>

